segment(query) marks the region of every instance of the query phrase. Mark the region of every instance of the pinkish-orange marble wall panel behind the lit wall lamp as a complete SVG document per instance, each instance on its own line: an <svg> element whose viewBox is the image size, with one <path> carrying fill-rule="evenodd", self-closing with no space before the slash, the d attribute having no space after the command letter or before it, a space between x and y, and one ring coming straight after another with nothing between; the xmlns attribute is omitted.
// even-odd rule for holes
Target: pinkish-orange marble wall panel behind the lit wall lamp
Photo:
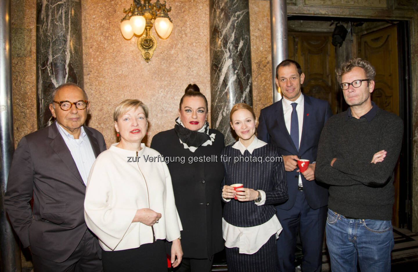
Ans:
<svg viewBox="0 0 418 272"><path fill-rule="evenodd" d="M168 1L173 32L162 40L153 29L157 48L149 63L140 55L137 38L127 41L119 30L129 0L82 3L84 80L92 103L89 126L103 133L107 145L116 142L113 110L123 99L140 99L149 107L147 144L156 133L174 127L189 83L200 87L210 105L207 1Z"/></svg>

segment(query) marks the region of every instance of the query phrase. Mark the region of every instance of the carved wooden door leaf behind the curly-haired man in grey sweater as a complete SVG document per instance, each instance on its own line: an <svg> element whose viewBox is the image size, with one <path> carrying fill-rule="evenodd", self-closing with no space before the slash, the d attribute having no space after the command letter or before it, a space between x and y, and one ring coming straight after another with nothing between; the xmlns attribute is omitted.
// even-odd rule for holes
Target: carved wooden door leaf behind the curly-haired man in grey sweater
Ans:
<svg viewBox="0 0 418 272"><path fill-rule="evenodd" d="M360 56L375 67L372 101L378 107L399 116L398 37L396 25L360 37ZM399 160L395 168L394 226L399 227Z"/></svg>

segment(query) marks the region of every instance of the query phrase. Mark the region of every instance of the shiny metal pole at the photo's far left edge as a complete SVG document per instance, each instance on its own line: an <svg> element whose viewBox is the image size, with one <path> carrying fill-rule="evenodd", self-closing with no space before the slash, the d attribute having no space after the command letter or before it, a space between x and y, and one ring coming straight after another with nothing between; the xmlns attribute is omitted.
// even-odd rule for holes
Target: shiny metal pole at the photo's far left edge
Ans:
<svg viewBox="0 0 418 272"><path fill-rule="evenodd" d="M20 248L4 210L4 194L14 152L10 0L0 1L0 270L22 271Z"/></svg>

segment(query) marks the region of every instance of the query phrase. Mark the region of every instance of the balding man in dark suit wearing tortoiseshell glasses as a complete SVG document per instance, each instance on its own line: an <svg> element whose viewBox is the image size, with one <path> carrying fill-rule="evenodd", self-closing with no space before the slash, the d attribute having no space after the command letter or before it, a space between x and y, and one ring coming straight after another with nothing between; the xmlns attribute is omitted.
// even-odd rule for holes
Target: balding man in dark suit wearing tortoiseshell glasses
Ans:
<svg viewBox="0 0 418 272"><path fill-rule="evenodd" d="M62 84L51 100L56 122L23 137L15 150L5 208L23 247L30 246L35 272L100 272L101 249L84 222L84 193L106 144L84 125L90 103L83 89Z"/></svg>

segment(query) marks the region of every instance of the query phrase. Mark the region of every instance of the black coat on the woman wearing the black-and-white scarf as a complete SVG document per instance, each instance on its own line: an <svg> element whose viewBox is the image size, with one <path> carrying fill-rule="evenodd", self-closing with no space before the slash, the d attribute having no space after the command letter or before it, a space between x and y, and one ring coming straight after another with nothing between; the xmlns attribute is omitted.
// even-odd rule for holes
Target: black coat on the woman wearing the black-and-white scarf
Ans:
<svg viewBox="0 0 418 272"><path fill-rule="evenodd" d="M180 143L174 129L158 133L150 147L166 159L184 158L184 163L169 162L176 207L180 216L181 247L186 258L210 258L224 248L222 239L222 201L220 188L224 167L220 153L224 135L217 130L212 145L200 146L193 153ZM193 162L189 158L217 158L214 162Z"/></svg>

